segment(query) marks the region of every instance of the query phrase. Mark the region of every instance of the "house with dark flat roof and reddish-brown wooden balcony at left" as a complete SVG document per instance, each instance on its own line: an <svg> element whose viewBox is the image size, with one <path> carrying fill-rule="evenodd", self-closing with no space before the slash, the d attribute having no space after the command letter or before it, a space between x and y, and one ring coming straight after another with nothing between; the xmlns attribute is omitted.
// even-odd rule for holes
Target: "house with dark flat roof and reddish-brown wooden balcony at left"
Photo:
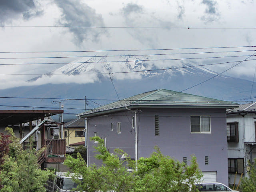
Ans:
<svg viewBox="0 0 256 192"><path fill-rule="evenodd" d="M5 128L11 127L24 148L32 138L36 150L46 147L38 164L42 168L62 168L60 163L64 162L66 154L66 141L60 135L63 122L51 119L51 116L61 113L63 110L0 110L0 132L6 134Z"/></svg>

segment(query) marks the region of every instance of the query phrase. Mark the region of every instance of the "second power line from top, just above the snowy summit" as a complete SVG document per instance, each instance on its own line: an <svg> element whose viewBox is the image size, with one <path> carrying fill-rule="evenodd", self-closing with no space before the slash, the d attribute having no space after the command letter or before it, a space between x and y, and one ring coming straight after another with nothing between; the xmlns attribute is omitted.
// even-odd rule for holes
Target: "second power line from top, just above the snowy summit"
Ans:
<svg viewBox="0 0 256 192"><path fill-rule="evenodd" d="M70 53L70 52L111 52L111 51L157 51L157 50L189 50L189 49L217 49L217 48L246 48L256 46L223 46L223 47L203 47L203 48L168 48L168 49L120 49L120 50L88 50L88 51L15 51L0 53Z"/></svg>

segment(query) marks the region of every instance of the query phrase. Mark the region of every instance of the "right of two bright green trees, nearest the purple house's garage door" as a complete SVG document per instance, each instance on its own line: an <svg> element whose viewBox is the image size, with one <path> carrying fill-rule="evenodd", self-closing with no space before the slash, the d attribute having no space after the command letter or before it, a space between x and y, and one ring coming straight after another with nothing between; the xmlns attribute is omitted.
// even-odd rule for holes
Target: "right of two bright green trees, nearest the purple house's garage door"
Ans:
<svg viewBox="0 0 256 192"><path fill-rule="evenodd" d="M138 160L136 191L196 191L195 183L202 178L196 157L192 156L190 165L186 165L164 156L158 147L155 147L155 150L149 158L142 157Z"/></svg>

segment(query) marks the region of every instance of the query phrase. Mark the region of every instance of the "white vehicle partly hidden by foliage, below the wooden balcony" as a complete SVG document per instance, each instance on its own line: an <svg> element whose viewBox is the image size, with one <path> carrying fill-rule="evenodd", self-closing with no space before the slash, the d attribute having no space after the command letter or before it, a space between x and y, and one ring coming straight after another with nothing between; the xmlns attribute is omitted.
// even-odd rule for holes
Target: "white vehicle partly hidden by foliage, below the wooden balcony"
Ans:
<svg viewBox="0 0 256 192"><path fill-rule="evenodd" d="M82 177L78 179L82 180ZM45 187L47 192L72 192L77 184L66 172L56 172L54 180L48 180Z"/></svg>

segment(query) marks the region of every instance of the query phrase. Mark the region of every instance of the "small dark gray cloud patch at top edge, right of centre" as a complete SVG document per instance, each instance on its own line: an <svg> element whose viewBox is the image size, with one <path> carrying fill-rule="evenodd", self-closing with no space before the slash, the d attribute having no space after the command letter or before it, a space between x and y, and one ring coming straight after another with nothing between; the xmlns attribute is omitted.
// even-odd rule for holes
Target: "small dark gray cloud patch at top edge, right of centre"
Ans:
<svg viewBox="0 0 256 192"><path fill-rule="evenodd" d="M220 14L216 8L217 2L215 0L203 0L202 4L206 5L206 15L201 17L202 20L205 22L213 22L220 18Z"/></svg>

